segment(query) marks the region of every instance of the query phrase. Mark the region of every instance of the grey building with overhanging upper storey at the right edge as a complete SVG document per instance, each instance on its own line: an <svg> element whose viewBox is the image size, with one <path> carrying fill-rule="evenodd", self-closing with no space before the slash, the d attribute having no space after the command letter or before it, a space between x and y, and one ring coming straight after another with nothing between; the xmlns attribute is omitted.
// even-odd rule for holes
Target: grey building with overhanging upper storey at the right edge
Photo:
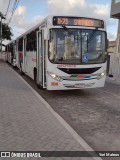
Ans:
<svg viewBox="0 0 120 160"><path fill-rule="evenodd" d="M111 18L118 19L118 31L114 57L111 57L110 72L115 77L120 77L120 0L112 0Z"/></svg>

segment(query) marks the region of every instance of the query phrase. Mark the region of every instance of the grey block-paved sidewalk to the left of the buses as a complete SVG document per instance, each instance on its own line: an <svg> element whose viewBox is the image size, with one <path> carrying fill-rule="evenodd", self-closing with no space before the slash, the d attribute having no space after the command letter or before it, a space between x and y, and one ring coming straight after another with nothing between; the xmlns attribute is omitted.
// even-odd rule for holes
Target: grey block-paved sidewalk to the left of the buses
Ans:
<svg viewBox="0 0 120 160"><path fill-rule="evenodd" d="M0 151L91 150L80 142L79 136L77 140L75 133L63 122L12 68L0 62ZM74 157L41 159L100 160Z"/></svg>

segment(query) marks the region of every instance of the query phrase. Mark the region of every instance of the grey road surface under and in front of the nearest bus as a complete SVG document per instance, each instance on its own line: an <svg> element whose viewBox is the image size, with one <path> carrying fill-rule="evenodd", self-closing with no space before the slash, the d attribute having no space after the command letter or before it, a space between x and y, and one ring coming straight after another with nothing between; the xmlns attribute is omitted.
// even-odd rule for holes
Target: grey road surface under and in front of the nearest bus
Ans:
<svg viewBox="0 0 120 160"><path fill-rule="evenodd" d="M98 89L47 91L22 77L95 151L120 151L120 85L106 82Z"/></svg>

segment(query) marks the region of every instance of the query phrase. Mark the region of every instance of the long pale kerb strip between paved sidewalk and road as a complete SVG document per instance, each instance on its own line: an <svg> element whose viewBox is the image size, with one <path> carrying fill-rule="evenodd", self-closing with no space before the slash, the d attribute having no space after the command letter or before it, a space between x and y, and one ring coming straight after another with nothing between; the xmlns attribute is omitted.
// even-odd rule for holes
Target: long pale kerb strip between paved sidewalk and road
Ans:
<svg viewBox="0 0 120 160"><path fill-rule="evenodd" d="M12 70L12 69L11 69ZM12 70L14 71L14 70ZM15 72L15 71L14 71ZM31 89L31 91L38 97L38 99L48 108L48 110L58 119L58 121L69 131L74 139L84 148L85 151L94 151L79 135L78 133L58 114L52 107L18 74L15 74ZM91 157L93 160L102 160L100 157Z"/></svg>

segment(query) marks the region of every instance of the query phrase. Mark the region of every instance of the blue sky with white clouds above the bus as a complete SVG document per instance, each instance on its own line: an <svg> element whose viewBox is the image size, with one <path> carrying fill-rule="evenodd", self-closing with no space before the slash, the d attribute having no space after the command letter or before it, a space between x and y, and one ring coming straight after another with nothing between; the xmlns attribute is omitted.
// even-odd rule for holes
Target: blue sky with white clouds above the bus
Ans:
<svg viewBox="0 0 120 160"><path fill-rule="evenodd" d="M15 0L11 0L5 23L9 22ZM6 14L9 0L0 0L0 12ZM14 36L38 24L48 15L67 14L104 19L109 40L117 36L118 20L110 18L111 0L20 0L9 25Z"/></svg>

